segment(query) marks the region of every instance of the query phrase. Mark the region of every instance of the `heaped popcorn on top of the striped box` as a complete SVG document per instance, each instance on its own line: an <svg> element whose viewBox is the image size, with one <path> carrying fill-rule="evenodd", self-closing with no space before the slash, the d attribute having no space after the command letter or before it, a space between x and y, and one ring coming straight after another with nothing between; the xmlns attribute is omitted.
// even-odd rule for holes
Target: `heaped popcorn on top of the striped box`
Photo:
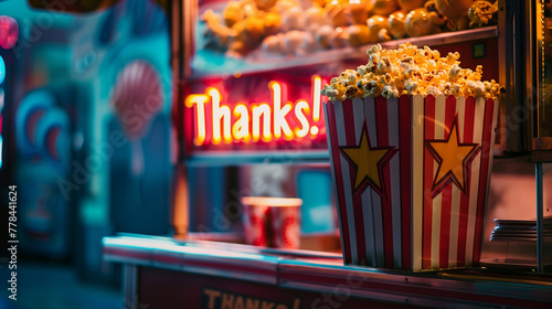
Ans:
<svg viewBox="0 0 552 309"><path fill-rule="evenodd" d="M461 68L460 54L445 57L427 46L408 43L397 50L383 50L380 44L367 52L369 61L357 70L346 70L331 78L322 95L330 100L379 95L390 98L401 95L474 96L498 99L501 86L491 79L481 82L482 66L476 71Z"/></svg>

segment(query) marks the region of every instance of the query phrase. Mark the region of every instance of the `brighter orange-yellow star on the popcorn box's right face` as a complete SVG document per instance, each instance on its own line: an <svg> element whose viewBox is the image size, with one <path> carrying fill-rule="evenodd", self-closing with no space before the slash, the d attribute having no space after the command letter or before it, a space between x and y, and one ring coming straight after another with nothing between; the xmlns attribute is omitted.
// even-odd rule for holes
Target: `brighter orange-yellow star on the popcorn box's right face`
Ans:
<svg viewBox="0 0 552 309"><path fill-rule="evenodd" d="M466 193L468 163L475 158L480 147L477 143L458 142L456 119L446 140L426 141L426 147L439 164L433 181L434 194L444 189L446 183L455 183Z"/></svg>

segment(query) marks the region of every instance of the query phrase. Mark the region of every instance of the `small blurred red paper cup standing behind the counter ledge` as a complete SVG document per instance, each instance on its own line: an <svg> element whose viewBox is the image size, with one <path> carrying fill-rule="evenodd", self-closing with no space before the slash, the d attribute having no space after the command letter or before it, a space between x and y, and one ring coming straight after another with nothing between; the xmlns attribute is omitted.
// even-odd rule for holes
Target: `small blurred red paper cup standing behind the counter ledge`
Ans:
<svg viewBox="0 0 552 309"><path fill-rule="evenodd" d="M254 246L297 249L300 242L300 199L242 198L245 241Z"/></svg>

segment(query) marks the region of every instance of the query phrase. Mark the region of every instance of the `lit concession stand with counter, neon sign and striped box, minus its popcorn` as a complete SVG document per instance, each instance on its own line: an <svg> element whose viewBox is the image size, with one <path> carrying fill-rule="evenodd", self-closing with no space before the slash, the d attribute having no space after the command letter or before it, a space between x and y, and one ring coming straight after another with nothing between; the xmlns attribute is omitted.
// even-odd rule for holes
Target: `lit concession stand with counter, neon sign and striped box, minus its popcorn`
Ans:
<svg viewBox="0 0 552 309"><path fill-rule="evenodd" d="M126 308L551 308L550 1L169 13L173 234L104 238ZM500 96L323 93L407 42Z"/></svg>

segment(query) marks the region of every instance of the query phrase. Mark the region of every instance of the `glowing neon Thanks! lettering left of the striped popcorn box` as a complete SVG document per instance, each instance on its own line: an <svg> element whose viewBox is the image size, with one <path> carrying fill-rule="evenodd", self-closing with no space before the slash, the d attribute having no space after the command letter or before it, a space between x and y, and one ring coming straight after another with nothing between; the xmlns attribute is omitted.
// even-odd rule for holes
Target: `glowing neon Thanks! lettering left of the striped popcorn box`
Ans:
<svg viewBox="0 0 552 309"><path fill-rule="evenodd" d="M321 78L312 76L312 97L309 100L299 98L294 103L285 98L286 84L275 81L267 84L269 102L224 103L226 95L217 87L208 87L203 94L189 95L184 105L193 109L193 143L203 146L314 139L325 134L325 130L319 129L325 126L320 121L321 85Z"/></svg>

